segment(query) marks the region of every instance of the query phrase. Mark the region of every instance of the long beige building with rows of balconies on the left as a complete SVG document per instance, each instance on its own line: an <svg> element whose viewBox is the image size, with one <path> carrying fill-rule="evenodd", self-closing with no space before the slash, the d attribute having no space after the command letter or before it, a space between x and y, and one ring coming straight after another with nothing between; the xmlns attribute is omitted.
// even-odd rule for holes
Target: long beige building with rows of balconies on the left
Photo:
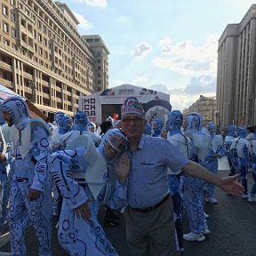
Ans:
<svg viewBox="0 0 256 256"><path fill-rule="evenodd" d="M108 49L98 35L79 35L67 4L0 3L0 84L51 119L58 110L73 116L79 96L108 88Z"/></svg>

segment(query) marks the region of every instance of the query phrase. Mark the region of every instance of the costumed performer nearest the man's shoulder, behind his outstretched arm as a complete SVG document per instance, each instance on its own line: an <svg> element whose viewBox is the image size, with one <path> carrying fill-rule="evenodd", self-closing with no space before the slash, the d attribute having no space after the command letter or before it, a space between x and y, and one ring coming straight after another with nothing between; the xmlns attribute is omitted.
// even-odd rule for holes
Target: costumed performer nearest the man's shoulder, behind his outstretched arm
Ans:
<svg viewBox="0 0 256 256"><path fill-rule="evenodd" d="M183 115L180 110L172 110L167 119L166 129L168 132L167 140L177 148L183 156L189 158L189 140L181 132L181 126L183 124ZM184 251L183 245L183 216L182 216L182 198L180 195L180 175L172 174L172 170L168 168L168 185L172 196L173 204L173 218L175 223L175 240L178 252Z"/></svg>

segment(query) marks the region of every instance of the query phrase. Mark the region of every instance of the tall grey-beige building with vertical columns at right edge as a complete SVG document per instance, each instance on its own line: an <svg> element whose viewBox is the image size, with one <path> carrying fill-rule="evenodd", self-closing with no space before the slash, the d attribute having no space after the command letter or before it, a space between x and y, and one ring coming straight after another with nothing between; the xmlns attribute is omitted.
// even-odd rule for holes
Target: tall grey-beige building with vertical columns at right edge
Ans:
<svg viewBox="0 0 256 256"><path fill-rule="evenodd" d="M256 4L239 24L228 24L218 46L220 125L256 126Z"/></svg>

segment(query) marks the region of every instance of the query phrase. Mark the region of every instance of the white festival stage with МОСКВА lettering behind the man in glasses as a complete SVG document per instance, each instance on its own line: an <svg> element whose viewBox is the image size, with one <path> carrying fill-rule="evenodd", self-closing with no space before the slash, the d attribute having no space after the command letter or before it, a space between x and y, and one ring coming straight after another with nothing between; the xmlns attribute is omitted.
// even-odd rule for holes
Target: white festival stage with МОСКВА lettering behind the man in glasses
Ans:
<svg viewBox="0 0 256 256"><path fill-rule="evenodd" d="M101 92L80 96L79 109L95 124L101 124L108 116L121 118L121 106L127 97L136 97L143 104L146 118L163 117L172 110L170 95L132 84L121 84Z"/></svg>

